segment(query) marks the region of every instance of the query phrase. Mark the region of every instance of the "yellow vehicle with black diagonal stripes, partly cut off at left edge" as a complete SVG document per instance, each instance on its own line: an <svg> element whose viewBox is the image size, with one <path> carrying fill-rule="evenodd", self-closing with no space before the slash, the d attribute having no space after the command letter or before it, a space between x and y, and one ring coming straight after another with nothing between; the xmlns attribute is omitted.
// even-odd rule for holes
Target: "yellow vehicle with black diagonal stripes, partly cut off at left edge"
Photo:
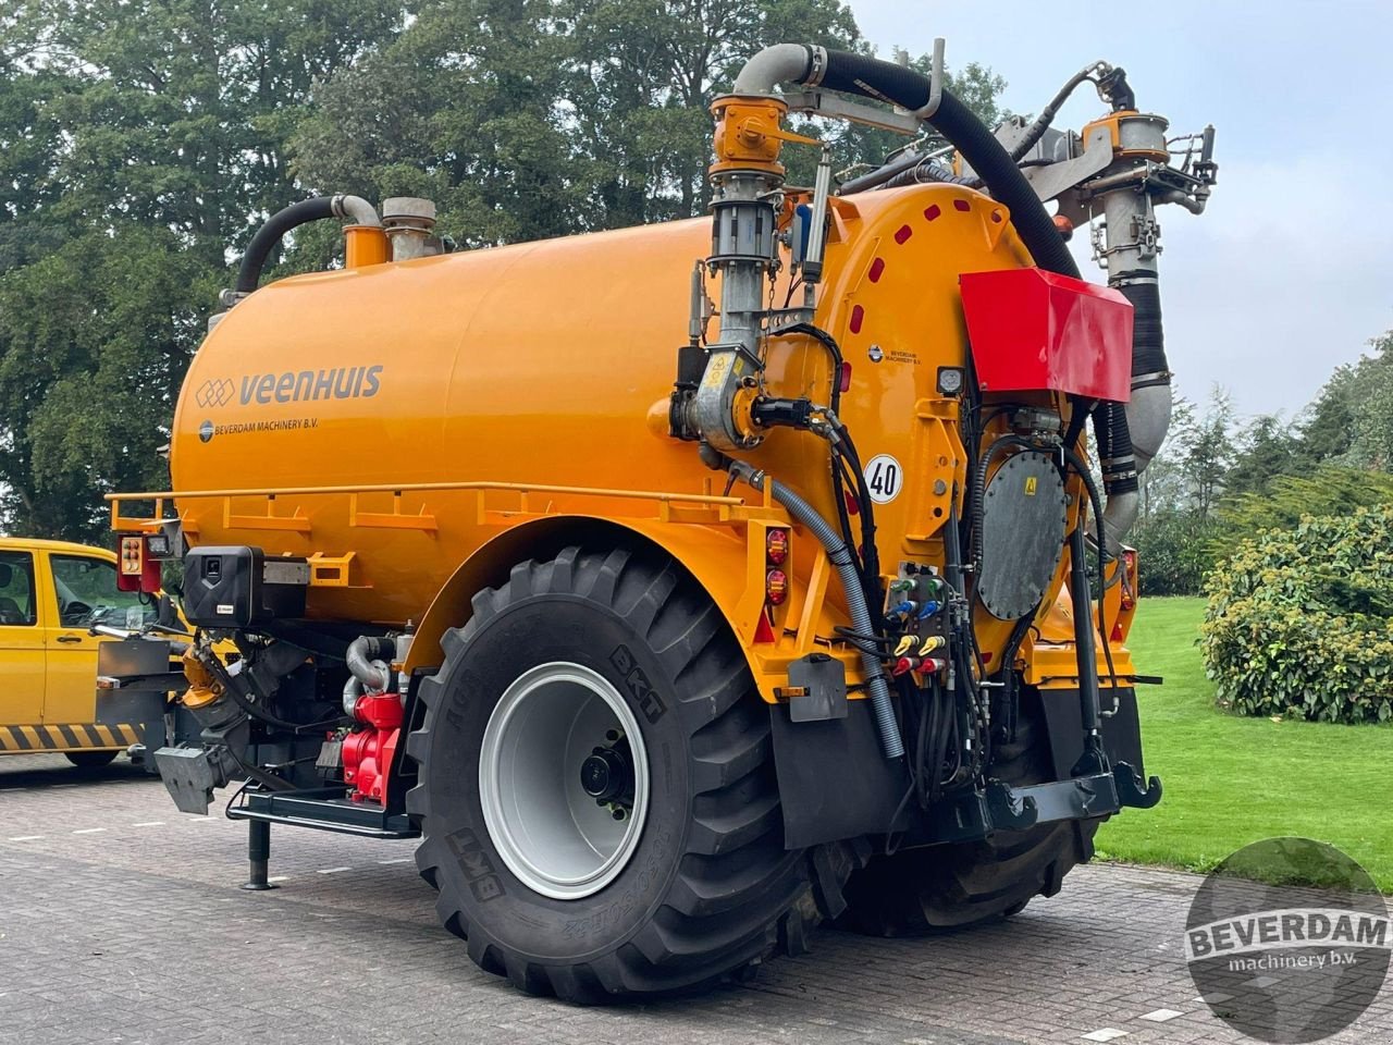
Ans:
<svg viewBox="0 0 1393 1045"><path fill-rule="evenodd" d="M0 755L60 752L102 766L145 740L135 708L96 690L95 626L137 630L156 617L116 588L116 555L65 541L0 538ZM111 711L117 713L113 720Z"/></svg>

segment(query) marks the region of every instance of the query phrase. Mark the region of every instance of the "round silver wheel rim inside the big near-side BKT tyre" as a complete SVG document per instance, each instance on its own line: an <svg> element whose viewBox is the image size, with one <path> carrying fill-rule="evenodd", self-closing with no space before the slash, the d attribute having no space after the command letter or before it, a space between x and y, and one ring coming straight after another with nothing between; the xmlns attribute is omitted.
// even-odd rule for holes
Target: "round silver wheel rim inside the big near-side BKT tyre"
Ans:
<svg viewBox="0 0 1393 1045"><path fill-rule="evenodd" d="M623 821L581 786L581 764L606 737L628 738L632 811ZM529 889L579 900L613 882L648 815L648 754L634 712L602 674L570 662L518 676L489 716L479 751L483 823Z"/></svg>

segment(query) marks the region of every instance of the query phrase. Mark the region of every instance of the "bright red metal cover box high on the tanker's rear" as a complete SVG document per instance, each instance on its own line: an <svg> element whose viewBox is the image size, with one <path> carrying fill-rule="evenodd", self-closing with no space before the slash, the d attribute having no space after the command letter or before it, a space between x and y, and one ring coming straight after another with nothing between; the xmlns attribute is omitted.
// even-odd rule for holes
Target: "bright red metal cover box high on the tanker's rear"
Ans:
<svg viewBox="0 0 1393 1045"><path fill-rule="evenodd" d="M1131 302L1116 290L1043 269L958 277L982 392L1050 389L1131 398Z"/></svg>

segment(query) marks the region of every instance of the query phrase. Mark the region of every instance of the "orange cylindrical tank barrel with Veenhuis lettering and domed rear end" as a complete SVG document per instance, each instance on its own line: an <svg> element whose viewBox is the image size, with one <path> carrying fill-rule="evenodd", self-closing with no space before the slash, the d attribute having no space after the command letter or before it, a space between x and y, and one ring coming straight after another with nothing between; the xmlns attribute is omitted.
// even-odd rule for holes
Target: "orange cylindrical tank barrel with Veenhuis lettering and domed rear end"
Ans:
<svg viewBox="0 0 1393 1045"><path fill-rule="evenodd" d="M915 404L937 397L939 366L965 359L958 272L1029 265L1003 215L956 185L839 202L834 276L816 319L850 364L843 415L866 461L887 457L903 475L924 457L951 488L943 422ZM710 222L696 219L262 287L217 323L189 368L173 489L490 481L702 493L710 472L695 449L656 432L649 412L671 390L692 261L709 244ZM827 366L811 339L773 339L766 385L825 401ZM820 439L777 429L748 457L776 464L780 481L833 516ZM949 496L933 490L932 479L905 496L896 489L878 507L887 562L904 553L905 535L942 524ZM352 553L352 584L316 587L313 616L419 619L486 536L474 524L476 495L457 492L358 499L359 516L428 513L433 529L351 527L347 495L277 497L273 521L265 499L178 507L199 543ZM638 502L566 507L652 511Z"/></svg>

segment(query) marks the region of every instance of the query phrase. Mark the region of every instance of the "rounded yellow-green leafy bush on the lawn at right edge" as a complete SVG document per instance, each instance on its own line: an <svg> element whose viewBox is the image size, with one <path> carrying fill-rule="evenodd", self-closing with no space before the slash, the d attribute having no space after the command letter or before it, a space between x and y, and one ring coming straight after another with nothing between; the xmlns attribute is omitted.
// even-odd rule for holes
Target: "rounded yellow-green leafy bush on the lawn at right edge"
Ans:
<svg viewBox="0 0 1393 1045"><path fill-rule="evenodd" d="M1393 718L1393 504L1238 543L1205 581L1220 705L1314 722Z"/></svg>

